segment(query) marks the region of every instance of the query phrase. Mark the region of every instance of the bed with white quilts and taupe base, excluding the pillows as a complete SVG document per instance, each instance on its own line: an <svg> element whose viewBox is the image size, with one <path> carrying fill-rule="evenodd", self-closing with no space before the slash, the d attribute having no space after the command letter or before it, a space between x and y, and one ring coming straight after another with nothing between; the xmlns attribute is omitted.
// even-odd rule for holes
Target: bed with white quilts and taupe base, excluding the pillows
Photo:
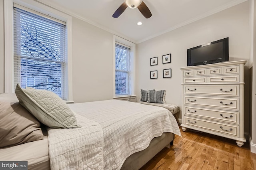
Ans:
<svg viewBox="0 0 256 170"><path fill-rule="evenodd" d="M161 107L119 100L68 107L82 128L42 127L42 140L0 148L0 160L27 160L28 169L139 169L181 135Z"/></svg>

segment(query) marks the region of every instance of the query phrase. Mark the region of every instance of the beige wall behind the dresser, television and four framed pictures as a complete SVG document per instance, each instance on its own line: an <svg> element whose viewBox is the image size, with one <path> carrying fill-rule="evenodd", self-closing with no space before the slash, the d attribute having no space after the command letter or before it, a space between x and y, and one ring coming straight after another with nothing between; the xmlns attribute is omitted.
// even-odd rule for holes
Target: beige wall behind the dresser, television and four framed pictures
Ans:
<svg viewBox="0 0 256 170"><path fill-rule="evenodd" d="M146 42L137 45L136 89L140 98L140 89L166 89L166 103L181 107L181 71L187 65L186 49L204 43L229 37L230 61L249 60L249 5L244 2L212 16L208 16ZM174 16L175 17L175 16ZM162 55L171 53L171 63L162 64ZM158 65L150 66L150 58L158 57ZM172 78L162 78L163 69L172 69ZM158 79L150 79L150 71L158 70ZM248 63L245 67L248 72ZM245 77L245 121L249 121L249 77ZM180 114L181 118L181 114ZM248 126L248 123L245 123ZM249 132L249 127L245 127Z"/></svg>

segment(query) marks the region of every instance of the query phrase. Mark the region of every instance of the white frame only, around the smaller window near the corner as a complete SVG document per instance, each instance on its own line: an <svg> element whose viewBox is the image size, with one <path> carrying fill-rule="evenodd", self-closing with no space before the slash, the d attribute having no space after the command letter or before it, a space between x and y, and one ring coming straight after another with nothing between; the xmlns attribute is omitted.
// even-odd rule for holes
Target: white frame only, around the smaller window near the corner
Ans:
<svg viewBox="0 0 256 170"><path fill-rule="evenodd" d="M130 64L131 64L131 94L130 95L116 95L116 42L122 43L131 47L130 49ZM136 60L136 44L128 40L113 36L113 99L133 99L135 98L135 60Z"/></svg>

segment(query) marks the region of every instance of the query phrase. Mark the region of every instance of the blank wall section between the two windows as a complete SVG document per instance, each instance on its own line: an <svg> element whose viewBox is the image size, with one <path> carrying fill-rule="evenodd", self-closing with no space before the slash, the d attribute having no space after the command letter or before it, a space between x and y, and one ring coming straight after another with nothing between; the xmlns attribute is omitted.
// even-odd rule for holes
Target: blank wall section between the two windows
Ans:
<svg viewBox="0 0 256 170"><path fill-rule="evenodd" d="M113 34L72 18L75 103L113 98Z"/></svg>

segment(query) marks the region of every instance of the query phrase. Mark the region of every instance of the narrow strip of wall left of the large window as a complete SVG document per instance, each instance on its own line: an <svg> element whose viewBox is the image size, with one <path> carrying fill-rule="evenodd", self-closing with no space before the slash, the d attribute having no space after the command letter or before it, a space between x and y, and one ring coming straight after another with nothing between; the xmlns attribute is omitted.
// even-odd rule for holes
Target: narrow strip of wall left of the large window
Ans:
<svg viewBox="0 0 256 170"><path fill-rule="evenodd" d="M4 92L4 0L0 0L0 93Z"/></svg>

